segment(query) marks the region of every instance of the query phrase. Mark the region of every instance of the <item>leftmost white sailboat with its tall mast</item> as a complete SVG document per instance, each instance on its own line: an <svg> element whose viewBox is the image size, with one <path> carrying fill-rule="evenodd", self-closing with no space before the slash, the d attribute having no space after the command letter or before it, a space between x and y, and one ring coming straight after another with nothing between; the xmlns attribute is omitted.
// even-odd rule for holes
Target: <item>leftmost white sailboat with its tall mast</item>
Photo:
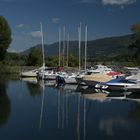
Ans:
<svg viewBox="0 0 140 140"><path fill-rule="evenodd" d="M22 71L20 73L21 77L37 77L38 72L45 69L45 57L44 57L44 41L43 41L43 31L42 31L42 23L40 23L40 30L41 30L41 40L42 40L42 55L43 55L43 66L38 69L33 69L29 71Z"/></svg>

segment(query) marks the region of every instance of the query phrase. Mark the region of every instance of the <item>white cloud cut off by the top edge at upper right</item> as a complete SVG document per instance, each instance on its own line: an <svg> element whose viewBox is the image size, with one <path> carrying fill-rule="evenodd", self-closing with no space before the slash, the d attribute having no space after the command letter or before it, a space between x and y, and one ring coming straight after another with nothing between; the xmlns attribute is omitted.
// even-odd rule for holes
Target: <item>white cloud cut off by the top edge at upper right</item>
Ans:
<svg viewBox="0 0 140 140"><path fill-rule="evenodd" d="M128 5L133 4L137 0L102 0L103 5Z"/></svg>

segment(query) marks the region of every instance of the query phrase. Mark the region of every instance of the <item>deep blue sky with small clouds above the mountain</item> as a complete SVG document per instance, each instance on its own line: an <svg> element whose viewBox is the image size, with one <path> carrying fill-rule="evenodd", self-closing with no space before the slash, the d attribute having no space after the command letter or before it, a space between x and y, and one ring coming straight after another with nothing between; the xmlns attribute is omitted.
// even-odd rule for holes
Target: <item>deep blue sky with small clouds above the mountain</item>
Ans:
<svg viewBox="0 0 140 140"><path fill-rule="evenodd" d="M12 29L9 50L22 51L38 43L40 22L45 43L58 41L58 28L66 27L71 40L77 40L77 27L88 26L88 39L131 33L140 22L140 0L0 0L0 15Z"/></svg>

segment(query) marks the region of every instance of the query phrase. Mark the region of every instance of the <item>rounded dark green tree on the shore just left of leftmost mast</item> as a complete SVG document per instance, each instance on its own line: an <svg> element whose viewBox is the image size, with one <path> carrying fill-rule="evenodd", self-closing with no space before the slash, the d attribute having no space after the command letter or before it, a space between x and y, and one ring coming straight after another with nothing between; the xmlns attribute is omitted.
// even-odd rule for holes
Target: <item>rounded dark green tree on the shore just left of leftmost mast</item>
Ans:
<svg viewBox="0 0 140 140"><path fill-rule="evenodd" d="M32 48L27 56L26 64L28 66L41 66L42 65L42 52L38 48Z"/></svg>

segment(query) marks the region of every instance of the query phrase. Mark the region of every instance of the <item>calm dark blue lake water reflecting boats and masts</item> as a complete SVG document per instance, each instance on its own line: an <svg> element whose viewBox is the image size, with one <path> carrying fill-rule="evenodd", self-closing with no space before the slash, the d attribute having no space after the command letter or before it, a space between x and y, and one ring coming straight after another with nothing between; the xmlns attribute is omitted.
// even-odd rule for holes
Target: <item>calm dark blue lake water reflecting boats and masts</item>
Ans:
<svg viewBox="0 0 140 140"><path fill-rule="evenodd" d="M0 78L0 139L138 139L140 95L137 100L106 95L75 85L49 87Z"/></svg>

